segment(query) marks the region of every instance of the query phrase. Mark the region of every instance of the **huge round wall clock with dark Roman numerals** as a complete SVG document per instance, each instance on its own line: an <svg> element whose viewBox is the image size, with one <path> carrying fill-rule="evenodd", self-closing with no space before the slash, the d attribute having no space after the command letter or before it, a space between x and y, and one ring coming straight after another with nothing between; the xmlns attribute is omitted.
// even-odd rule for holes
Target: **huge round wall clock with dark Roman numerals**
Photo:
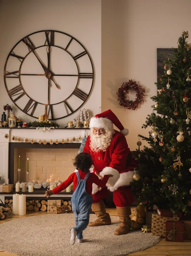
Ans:
<svg viewBox="0 0 191 256"><path fill-rule="evenodd" d="M48 111L60 119L77 111L94 84L94 67L87 49L76 38L56 30L34 32L9 52L4 67L9 97L35 118Z"/></svg>

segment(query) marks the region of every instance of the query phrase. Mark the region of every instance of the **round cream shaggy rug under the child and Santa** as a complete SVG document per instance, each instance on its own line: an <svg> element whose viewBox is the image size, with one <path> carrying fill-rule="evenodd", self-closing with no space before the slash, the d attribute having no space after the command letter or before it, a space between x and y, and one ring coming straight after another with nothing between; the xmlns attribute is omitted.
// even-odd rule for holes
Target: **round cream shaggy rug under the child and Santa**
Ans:
<svg viewBox="0 0 191 256"><path fill-rule="evenodd" d="M90 221L96 216L90 215ZM160 241L159 236L131 230L115 236L119 219L111 216L112 224L87 227L83 243L70 244L70 229L75 226L74 214L47 214L16 218L0 224L0 250L22 256L120 256L145 250Z"/></svg>

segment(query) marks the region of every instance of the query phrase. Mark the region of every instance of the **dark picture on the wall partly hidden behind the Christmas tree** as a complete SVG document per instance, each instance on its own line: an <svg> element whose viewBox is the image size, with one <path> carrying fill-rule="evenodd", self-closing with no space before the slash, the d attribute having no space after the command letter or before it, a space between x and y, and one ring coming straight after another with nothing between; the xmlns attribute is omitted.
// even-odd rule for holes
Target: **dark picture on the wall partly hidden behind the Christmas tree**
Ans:
<svg viewBox="0 0 191 256"><path fill-rule="evenodd" d="M157 48L157 82L160 81L159 76L164 74L164 61L171 57L172 52L171 48Z"/></svg>

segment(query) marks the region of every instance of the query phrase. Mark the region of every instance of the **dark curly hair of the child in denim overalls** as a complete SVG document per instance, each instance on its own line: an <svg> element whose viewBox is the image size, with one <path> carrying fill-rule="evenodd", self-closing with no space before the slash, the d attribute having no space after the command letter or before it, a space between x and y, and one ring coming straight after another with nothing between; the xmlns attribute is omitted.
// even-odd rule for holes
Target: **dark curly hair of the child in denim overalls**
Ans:
<svg viewBox="0 0 191 256"><path fill-rule="evenodd" d="M80 153L74 159L74 166L81 172L88 172L92 165L91 155L88 153Z"/></svg>

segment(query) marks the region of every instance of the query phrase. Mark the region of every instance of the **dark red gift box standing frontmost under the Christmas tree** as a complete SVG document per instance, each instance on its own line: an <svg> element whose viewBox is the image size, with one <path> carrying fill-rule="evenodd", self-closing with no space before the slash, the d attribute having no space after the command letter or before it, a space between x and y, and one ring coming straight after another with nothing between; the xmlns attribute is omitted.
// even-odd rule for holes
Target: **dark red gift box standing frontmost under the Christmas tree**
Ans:
<svg viewBox="0 0 191 256"><path fill-rule="evenodd" d="M166 221L165 240L171 242L184 241L184 221Z"/></svg>

